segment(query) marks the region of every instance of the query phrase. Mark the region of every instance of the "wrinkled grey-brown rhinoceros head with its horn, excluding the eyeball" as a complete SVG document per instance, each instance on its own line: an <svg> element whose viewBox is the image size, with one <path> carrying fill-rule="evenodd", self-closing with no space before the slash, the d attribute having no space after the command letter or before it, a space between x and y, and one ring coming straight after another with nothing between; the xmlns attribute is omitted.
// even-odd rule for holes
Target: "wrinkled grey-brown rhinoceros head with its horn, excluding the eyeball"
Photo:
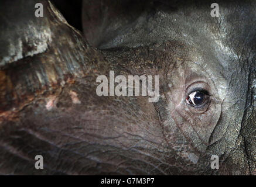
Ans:
<svg viewBox="0 0 256 187"><path fill-rule="evenodd" d="M210 1L84 1L86 39L35 2L0 3L0 174L256 174L255 1L217 1L219 18ZM97 96L110 70L159 75L159 101ZM185 101L198 87L203 109Z"/></svg>

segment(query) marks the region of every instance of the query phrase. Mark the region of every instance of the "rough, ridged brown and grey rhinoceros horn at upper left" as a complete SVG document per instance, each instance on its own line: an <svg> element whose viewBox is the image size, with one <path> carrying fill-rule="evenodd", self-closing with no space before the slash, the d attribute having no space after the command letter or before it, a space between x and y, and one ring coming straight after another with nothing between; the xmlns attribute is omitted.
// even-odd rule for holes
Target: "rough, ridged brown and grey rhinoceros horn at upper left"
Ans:
<svg viewBox="0 0 256 187"><path fill-rule="evenodd" d="M35 15L37 3L43 17ZM0 121L86 74L97 54L50 1L0 1Z"/></svg>

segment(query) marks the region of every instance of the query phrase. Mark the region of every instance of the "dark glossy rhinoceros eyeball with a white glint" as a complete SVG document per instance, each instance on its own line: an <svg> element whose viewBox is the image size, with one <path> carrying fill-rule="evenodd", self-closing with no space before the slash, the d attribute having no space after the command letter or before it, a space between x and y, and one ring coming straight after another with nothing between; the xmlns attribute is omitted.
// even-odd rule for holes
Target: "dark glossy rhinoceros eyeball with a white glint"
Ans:
<svg viewBox="0 0 256 187"><path fill-rule="evenodd" d="M209 101L209 95L206 91L193 91L186 98L187 104L195 107L204 106Z"/></svg>

